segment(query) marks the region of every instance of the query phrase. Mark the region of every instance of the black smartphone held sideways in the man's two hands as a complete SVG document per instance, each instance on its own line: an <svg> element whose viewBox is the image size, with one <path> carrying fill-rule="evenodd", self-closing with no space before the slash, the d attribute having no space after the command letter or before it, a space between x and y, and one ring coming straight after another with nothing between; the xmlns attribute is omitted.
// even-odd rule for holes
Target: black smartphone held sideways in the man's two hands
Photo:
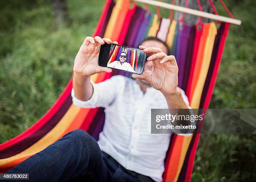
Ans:
<svg viewBox="0 0 256 182"><path fill-rule="evenodd" d="M100 45L98 64L131 73L143 73L148 55L143 50L123 45Z"/></svg>

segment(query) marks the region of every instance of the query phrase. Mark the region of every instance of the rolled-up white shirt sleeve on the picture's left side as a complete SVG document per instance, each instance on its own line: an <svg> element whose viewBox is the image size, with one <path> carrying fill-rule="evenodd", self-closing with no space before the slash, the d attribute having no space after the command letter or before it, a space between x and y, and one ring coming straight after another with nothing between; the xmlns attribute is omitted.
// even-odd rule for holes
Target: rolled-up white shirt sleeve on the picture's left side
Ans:
<svg viewBox="0 0 256 182"><path fill-rule="evenodd" d="M125 82L125 79L120 75L113 76L104 82L96 84L91 81L93 93L92 97L87 101L79 100L75 96L74 89L72 89L71 95L73 104L84 108L108 107L118 96L118 90L120 90L122 82Z"/></svg>

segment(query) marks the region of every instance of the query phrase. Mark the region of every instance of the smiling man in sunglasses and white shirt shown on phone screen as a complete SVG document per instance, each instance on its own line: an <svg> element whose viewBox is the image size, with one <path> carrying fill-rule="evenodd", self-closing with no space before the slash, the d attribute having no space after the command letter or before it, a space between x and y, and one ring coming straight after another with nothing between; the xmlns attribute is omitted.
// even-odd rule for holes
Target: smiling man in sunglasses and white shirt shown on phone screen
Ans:
<svg viewBox="0 0 256 182"><path fill-rule="evenodd" d="M116 69L129 71L129 72L135 72L133 70L133 67L131 67L131 64L129 64L128 62L125 62L126 57L127 57L126 53L121 52L120 57L119 57L119 61L111 62L110 64L108 64L108 67L113 67L113 68L116 68Z"/></svg>

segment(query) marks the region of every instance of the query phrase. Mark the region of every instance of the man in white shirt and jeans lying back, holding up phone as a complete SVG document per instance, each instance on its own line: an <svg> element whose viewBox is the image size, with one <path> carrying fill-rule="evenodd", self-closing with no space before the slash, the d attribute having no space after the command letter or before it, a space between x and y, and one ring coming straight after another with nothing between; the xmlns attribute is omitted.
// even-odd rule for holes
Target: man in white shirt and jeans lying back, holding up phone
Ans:
<svg viewBox="0 0 256 182"><path fill-rule="evenodd" d="M105 107L105 125L98 142L74 130L8 173L29 173L31 181L160 182L171 134L151 134L151 108L187 109L178 85L175 57L164 42L143 41L149 54L143 74L120 75L94 84L90 76L111 72L97 65L100 45L118 44L86 37L74 61L72 97L80 107Z"/></svg>

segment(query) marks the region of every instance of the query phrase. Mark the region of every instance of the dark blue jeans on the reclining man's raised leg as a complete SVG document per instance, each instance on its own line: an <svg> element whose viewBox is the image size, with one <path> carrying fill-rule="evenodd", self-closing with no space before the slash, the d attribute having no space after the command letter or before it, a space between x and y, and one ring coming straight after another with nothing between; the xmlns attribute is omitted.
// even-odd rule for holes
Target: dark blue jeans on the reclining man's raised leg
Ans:
<svg viewBox="0 0 256 182"><path fill-rule="evenodd" d="M102 155L97 141L84 130L67 133L7 173L29 173L33 182L141 182Z"/></svg>

